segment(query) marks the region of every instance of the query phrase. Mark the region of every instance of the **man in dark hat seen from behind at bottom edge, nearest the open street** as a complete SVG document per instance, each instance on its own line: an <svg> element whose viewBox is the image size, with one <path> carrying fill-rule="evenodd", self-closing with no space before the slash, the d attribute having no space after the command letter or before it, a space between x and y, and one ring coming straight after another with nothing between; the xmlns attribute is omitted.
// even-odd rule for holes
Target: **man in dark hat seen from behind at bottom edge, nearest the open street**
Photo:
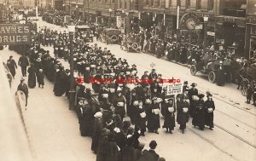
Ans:
<svg viewBox="0 0 256 161"><path fill-rule="evenodd" d="M157 146L156 141L151 141L149 143L150 149L143 151L142 157L139 158L137 161L157 161L159 158L159 155L154 151L156 146Z"/></svg>

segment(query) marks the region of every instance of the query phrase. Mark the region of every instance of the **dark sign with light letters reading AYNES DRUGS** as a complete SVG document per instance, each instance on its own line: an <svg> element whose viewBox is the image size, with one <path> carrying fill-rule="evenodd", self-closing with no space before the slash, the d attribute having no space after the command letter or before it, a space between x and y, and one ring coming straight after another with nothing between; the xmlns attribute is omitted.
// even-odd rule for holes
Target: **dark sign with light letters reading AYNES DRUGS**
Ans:
<svg viewBox="0 0 256 161"><path fill-rule="evenodd" d="M0 45L31 43L30 26L22 24L0 24Z"/></svg>

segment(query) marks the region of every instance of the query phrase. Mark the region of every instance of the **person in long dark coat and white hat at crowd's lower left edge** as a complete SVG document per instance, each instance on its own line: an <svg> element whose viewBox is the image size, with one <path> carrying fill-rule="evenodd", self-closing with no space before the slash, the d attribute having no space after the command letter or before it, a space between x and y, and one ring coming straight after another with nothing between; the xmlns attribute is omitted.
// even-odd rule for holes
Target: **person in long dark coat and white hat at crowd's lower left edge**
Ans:
<svg viewBox="0 0 256 161"><path fill-rule="evenodd" d="M98 150L99 140L101 138L103 124L102 124L102 112L96 112L94 115L94 127L90 149L96 153Z"/></svg>

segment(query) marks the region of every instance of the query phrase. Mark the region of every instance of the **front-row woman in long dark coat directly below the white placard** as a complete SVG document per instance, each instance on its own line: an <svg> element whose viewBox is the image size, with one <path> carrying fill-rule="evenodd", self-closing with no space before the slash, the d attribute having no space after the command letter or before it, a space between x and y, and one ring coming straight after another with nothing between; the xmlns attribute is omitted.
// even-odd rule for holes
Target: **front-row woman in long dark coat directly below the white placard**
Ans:
<svg viewBox="0 0 256 161"><path fill-rule="evenodd" d="M172 130L175 127L175 112L176 108L174 106L173 99L169 99L168 103L163 104L163 111L165 113L165 122L163 128L166 128L166 132L170 132L172 134Z"/></svg>

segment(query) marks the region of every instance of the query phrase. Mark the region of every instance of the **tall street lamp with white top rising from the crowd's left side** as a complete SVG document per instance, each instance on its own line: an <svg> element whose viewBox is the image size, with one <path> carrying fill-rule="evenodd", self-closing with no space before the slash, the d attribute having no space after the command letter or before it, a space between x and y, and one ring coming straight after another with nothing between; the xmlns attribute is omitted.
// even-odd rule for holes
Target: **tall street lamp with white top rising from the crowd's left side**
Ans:
<svg viewBox="0 0 256 161"><path fill-rule="evenodd" d="M75 26L73 24L73 20L70 21L70 25L67 26L67 30L69 32L69 40L70 40L70 90L69 90L69 110L74 110L74 97L75 97L75 89L74 89L74 63L73 63L73 39Z"/></svg>

